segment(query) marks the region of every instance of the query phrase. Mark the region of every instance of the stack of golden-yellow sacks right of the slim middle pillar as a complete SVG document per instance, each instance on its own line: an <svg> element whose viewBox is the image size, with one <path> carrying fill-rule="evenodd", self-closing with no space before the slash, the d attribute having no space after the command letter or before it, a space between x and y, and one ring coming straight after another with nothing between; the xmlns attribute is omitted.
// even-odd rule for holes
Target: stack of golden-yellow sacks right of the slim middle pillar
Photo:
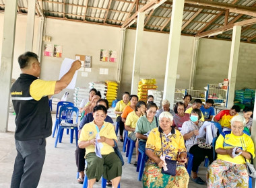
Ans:
<svg viewBox="0 0 256 188"><path fill-rule="evenodd" d="M139 101L147 102L148 90L156 89L156 79L141 79L139 81L138 97Z"/></svg>

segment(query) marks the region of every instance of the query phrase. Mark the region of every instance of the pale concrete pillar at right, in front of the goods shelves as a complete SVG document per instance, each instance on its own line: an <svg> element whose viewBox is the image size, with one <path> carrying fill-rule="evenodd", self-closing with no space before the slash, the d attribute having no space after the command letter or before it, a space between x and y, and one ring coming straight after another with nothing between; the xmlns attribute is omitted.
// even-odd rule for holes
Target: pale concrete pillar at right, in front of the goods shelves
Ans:
<svg viewBox="0 0 256 188"><path fill-rule="evenodd" d="M234 26L232 34L232 44L230 51L230 60L228 68L228 81L229 81L229 92L228 92L228 105L230 108L234 104L234 88L236 87L236 71L238 64L238 54L241 39L241 26Z"/></svg>

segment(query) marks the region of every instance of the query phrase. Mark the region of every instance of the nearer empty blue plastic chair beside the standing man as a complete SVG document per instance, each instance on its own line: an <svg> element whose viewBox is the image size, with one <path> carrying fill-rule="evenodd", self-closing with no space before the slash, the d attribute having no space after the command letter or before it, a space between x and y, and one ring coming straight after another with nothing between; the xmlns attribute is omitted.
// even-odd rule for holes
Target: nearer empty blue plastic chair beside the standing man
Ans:
<svg viewBox="0 0 256 188"><path fill-rule="evenodd" d="M55 140L55 148L57 147L57 142L59 139L59 143L62 141L62 136L63 136L63 130L70 129L70 143L73 143L73 132L75 130L75 142L77 145L78 141L78 129L77 129L77 122L78 122L78 115L79 115L79 109L74 106L62 106L60 109L60 114L65 113L65 122L59 124L59 130L57 133L57 137ZM73 115L76 115L76 120L75 124L73 124ZM61 116L59 117L59 122L61 122Z"/></svg>

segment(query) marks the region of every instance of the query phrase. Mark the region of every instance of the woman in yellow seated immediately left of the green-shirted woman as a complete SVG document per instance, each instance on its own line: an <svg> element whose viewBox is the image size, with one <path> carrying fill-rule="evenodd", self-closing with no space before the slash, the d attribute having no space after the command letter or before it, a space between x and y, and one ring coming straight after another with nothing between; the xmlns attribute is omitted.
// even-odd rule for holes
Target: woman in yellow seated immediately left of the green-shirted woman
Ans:
<svg viewBox="0 0 256 188"><path fill-rule="evenodd" d="M137 140L137 137L135 136L135 128L137 124L137 120L141 117L141 115L144 115L146 108L146 103L143 101L139 101L136 104L135 110L132 111L127 115L126 121L125 121L125 130L128 130L128 136L135 142L135 148L136 148L136 161L134 163L134 166L137 167L137 159L139 154L139 141Z"/></svg>

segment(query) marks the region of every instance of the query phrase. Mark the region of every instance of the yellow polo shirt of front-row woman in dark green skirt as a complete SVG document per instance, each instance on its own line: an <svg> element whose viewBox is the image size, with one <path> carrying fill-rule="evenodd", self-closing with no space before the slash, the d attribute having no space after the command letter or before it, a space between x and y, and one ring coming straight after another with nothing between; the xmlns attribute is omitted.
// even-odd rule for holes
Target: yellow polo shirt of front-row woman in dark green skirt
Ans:
<svg viewBox="0 0 256 188"><path fill-rule="evenodd" d="M113 124L104 122L102 128L98 130L98 126L96 126L94 122L90 122L89 124L85 124L84 127L82 128L78 142L92 140L96 137L97 133L99 133L100 136L117 140L117 135L115 133L115 128ZM102 144L103 144L103 147L100 149L101 154L110 154L110 152L114 152L114 148L112 146L106 144L105 142L102 142ZM86 154L90 152L95 152L94 145L90 145L86 147Z"/></svg>

